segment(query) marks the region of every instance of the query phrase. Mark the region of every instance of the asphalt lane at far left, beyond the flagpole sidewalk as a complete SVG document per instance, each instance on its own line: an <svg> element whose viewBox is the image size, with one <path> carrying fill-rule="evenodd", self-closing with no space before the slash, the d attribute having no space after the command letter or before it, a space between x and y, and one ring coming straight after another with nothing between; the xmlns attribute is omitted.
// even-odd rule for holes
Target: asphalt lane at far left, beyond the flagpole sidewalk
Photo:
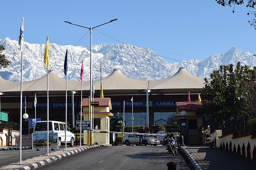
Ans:
<svg viewBox="0 0 256 170"><path fill-rule="evenodd" d="M65 146L61 146L60 149L65 148ZM68 146L67 146L68 147ZM53 152L49 149L49 153ZM33 158L39 155L47 154L47 150L32 150L32 149L22 149L21 150L21 160L26 160L29 158ZM8 150L8 151L0 151L0 167L4 165L9 165L12 163L16 163L20 161L20 150Z"/></svg>

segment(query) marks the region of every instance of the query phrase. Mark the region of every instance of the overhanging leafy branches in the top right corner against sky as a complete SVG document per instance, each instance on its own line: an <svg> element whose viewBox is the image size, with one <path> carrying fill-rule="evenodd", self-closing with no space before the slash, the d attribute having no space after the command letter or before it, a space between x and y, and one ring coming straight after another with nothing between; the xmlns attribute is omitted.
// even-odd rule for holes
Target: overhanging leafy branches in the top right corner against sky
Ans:
<svg viewBox="0 0 256 170"><path fill-rule="evenodd" d="M229 6L232 8L232 12L235 12L235 6L236 5L242 5L244 4L244 0L215 0L217 4L220 4L222 6ZM256 6L256 0L247 0L247 5L246 7L252 8L252 10L255 10L254 6ZM256 11L249 11L247 15L253 15L253 17L256 18ZM249 20L248 23L254 27L256 30L256 20L252 19Z"/></svg>

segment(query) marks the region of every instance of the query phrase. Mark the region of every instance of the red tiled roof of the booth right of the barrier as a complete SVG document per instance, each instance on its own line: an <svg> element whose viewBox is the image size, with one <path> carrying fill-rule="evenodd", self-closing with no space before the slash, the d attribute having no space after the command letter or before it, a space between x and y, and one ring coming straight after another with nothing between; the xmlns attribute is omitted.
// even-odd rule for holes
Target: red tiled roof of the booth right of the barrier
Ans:
<svg viewBox="0 0 256 170"><path fill-rule="evenodd" d="M203 110L202 102L176 102L178 112L181 111L201 111Z"/></svg>

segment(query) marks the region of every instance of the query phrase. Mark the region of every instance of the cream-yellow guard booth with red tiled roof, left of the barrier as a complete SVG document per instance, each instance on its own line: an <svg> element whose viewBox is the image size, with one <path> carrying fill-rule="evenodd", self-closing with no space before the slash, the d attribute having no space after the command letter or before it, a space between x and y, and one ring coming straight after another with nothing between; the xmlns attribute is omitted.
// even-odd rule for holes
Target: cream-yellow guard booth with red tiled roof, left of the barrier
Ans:
<svg viewBox="0 0 256 170"><path fill-rule="evenodd" d="M114 116L110 110L112 110L110 98L93 98L93 102L98 102L96 106L93 106L93 131L109 131L109 117ZM89 99L82 100L84 121L89 121ZM87 144L87 136L89 130L84 130L84 144ZM109 144L109 133L91 133L92 144Z"/></svg>

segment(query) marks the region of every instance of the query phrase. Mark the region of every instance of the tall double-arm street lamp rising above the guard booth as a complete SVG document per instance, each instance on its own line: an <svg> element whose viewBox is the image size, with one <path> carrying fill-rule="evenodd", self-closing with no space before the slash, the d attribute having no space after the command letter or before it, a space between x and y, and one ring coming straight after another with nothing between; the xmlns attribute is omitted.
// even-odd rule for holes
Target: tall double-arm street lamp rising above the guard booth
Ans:
<svg viewBox="0 0 256 170"><path fill-rule="evenodd" d="M76 25L76 24L73 24L73 23L68 22L68 21L64 21L66 23L69 23L69 24L72 24L72 25L75 25L75 26L80 26L80 27L83 27L83 28L87 28L87 29L90 30L90 41L91 41L91 43L90 43L90 97L92 97L92 29L97 28L97 27L102 26L102 25L105 25L105 24L108 24L108 23L116 21L116 20L117 19L112 19L109 22L106 22L106 23L98 25L98 26L90 27L90 28L89 27L85 27L85 26ZM89 106L89 107L91 107L91 106ZM92 109L90 109L89 117L92 118ZM91 119L90 119L90 121L91 121ZM92 129L92 123L91 123L91 129Z"/></svg>

